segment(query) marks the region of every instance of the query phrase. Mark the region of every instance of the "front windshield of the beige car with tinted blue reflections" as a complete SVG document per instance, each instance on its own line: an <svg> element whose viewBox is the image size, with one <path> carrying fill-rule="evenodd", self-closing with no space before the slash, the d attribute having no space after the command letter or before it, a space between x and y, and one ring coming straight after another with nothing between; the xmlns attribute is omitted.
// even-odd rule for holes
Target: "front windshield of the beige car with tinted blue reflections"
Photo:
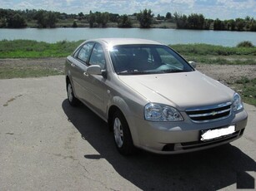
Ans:
<svg viewBox="0 0 256 191"><path fill-rule="evenodd" d="M193 71L181 56L162 45L122 45L110 51L118 75Z"/></svg>

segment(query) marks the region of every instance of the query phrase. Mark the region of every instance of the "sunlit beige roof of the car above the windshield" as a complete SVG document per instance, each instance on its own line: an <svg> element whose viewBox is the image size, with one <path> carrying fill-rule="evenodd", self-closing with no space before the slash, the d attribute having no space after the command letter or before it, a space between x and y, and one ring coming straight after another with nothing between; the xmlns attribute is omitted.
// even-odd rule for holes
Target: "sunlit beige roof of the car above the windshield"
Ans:
<svg viewBox="0 0 256 191"><path fill-rule="evenodd" d="M140 39L140 38L98 38L91 41L96 42L105 42L108 45L117 46L117 45L131 45L131 44L154 44L161 45L159 42L154 42L151 40Z"/></svg>

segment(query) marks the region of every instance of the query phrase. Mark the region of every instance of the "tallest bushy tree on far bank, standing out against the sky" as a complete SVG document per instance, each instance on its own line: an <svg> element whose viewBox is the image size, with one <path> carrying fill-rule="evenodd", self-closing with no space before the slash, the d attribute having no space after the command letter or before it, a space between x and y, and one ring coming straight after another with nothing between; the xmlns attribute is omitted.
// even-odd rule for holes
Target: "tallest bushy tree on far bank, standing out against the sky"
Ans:
<svg viewBox="0 0 256 191"><path fill-rule="evenodd" d="M151 9L144 9L137 14L137 19L142 28L150 28L153 22L153 13Z"/></svg>

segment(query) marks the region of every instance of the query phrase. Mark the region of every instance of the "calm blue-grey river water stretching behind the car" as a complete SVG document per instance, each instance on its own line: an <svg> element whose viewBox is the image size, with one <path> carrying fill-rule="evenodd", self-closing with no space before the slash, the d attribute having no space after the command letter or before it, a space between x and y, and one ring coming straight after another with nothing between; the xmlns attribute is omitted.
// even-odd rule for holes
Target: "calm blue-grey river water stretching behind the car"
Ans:
<svg viewBox="0 0 256 191"><path fill-rule="evenodd" d="M0 29L0 40L29 39L38 42L78 41L102 37L146 38L164 44L206 43L235 47L250 41L256 46L256 32L227 32L178 29L140 28L54 28Z"/></svg>

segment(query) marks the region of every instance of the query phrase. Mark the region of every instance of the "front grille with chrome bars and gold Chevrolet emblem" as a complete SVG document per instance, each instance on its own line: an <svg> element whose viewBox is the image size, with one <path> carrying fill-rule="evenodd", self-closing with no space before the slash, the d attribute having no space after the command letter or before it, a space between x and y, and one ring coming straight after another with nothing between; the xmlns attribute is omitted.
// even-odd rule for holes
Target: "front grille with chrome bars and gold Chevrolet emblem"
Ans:
<svg viewBox="0 0 256 191"><path fill-rule="evenodd" d="M186 110L193 122L203 123L213 120L222 120L231 115L232 103L227 102L218 105L210 105Z"/></svg>

